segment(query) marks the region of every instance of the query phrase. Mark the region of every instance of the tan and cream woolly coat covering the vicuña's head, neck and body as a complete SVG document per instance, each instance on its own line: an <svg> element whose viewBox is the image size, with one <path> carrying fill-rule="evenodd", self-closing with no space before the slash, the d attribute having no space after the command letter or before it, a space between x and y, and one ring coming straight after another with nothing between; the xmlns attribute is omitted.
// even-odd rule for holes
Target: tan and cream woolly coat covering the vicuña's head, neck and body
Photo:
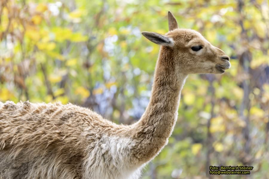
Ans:
<svg viewBox="0 0 269 179"><path fill-rule="evenodd" d="M0 102L0 179L139 178L172 133L187 75L230 67L222 50L168 16L165 36L143 33L162 46L150 102L137 123L117 125L73 104ZM197 45L203 49L192 51Z"/></svg>

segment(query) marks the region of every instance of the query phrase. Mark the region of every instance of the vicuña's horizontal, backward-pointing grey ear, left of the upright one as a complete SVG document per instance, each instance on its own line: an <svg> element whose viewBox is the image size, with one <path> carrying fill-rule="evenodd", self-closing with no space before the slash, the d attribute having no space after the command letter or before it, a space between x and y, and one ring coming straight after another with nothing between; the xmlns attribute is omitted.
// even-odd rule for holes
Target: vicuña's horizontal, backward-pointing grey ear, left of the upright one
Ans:
<svg viewBox="0 0 269 179"><path fill-rule="evenodd" d="M145 36L150 41L152 41L153 43L158 44L158 45L172 46L174 44L174 41L172 40L172 38L169 38L167 36L164 36L155 32L142 32L142 35Z"/></svg>

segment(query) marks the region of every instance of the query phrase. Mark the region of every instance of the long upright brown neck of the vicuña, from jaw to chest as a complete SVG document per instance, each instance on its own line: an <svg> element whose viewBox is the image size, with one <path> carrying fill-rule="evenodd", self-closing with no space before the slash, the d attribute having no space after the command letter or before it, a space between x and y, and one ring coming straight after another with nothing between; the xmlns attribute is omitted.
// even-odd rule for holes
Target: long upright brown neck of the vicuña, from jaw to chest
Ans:
<svg viewBox="0 0 269 179"><path fill-rule="evenodd" d="M144 151L148 159L158 154L172 133L177 120L180 93L187 77L177 69L172 53L169 48L161 47L149 105L135 127L135 137L139 141L149 140L148 146L140 146L148 149Z"/></svg>

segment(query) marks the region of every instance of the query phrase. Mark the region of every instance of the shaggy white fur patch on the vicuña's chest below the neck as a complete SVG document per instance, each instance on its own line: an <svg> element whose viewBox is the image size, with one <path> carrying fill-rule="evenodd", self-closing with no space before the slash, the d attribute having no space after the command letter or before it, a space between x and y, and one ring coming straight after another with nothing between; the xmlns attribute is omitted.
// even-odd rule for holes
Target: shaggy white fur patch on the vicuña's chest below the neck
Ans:
<svg viewBox="0 0 269 179"><path fill-rule="evenodd" d="M83 179L137 179L140 169L132 166L130 152L135 142L130 138L103 136L95 143L84 163Z"/></svg>

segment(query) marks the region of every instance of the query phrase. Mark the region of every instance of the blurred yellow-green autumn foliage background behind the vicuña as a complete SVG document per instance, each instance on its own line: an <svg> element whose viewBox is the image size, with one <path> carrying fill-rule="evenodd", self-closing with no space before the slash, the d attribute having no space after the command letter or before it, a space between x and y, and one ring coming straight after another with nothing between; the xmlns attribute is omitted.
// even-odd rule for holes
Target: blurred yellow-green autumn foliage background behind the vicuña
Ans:
<svg viewBox="0 0 269 179"><path fill-rule="evenodd" d="M231 57L223 75L189 75L168 145L143 179L269 178L267 0L1 0L0 101L62 101L118 124L143 114L167 12ZM254 166L209 175L209 166Z"/></svg>

